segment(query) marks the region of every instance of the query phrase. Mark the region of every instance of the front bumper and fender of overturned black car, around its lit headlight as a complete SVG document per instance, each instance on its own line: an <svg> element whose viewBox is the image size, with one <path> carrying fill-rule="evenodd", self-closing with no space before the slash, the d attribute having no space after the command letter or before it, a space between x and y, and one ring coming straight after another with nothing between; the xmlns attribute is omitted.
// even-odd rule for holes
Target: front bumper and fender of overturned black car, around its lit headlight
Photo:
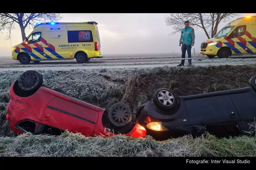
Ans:
<svg viewBox="0 0 256 170"><path fill-rule="evenodd" d="M182 109L169 116L160 114L156 110L157 109L153 107L150 102L147 102L143 104L137 112L136 117L138 123L146 129L147 135L152 136L156 140L166 140L191 133L191 127L186 112L182 111ZM162 126L161 130L166 130L156 131L149 129L147 125L152 122L160 122Z"/></svg>

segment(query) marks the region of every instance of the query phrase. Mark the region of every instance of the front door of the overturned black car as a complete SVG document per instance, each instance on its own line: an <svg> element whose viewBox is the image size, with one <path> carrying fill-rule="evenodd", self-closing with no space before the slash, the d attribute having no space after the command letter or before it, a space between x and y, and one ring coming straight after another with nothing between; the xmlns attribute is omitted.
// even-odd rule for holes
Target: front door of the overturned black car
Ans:
<svg viewBox="0 0 256 170"><path fill-rule="evenodd" d="M242 133L241 119L229 95L190 99L186 101L186 109L194 132L200 125L218 137Z"/></svg>

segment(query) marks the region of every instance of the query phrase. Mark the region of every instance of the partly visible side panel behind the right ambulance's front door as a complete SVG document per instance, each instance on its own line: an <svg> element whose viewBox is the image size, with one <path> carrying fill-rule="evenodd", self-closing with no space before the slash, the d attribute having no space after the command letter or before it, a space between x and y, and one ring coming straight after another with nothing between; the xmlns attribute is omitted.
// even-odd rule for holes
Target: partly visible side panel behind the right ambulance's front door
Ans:
<svg viewBox="0 0 256 170"><path fill-rule="evenodd" d="M252 23L249 26L249 31L246 32L248 36L247 47L256 53L256 23Z"/></svg>

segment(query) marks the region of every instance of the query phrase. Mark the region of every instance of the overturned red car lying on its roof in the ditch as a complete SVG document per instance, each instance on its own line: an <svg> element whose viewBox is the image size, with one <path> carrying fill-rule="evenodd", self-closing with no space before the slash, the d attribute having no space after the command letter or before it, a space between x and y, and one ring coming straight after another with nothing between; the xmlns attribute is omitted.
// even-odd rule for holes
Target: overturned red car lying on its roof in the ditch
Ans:
<svg viewBox="0 0 256 170"><path fill-rule="evenodd" d="M124 103L113 104L109 111L66 95L61 89L43 85L43 77L28 70L13 82L6 108L10 128L17 134L60 135L65 130L84 136L123 134L143 137L143 126L132 122L132 112Z"/></svg>

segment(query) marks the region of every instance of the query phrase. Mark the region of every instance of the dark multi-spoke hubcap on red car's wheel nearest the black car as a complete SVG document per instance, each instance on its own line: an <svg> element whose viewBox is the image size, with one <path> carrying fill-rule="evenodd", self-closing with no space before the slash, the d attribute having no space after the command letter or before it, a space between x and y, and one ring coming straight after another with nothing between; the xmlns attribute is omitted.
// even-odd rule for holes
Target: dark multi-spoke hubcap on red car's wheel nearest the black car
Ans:
<svg viewBox="0 0 256 170"><path fill-rule="evenodd" d="M111 112L111 118L116 123L125 123L128 120L129 113L124 106L117 106Z"/></svg>

